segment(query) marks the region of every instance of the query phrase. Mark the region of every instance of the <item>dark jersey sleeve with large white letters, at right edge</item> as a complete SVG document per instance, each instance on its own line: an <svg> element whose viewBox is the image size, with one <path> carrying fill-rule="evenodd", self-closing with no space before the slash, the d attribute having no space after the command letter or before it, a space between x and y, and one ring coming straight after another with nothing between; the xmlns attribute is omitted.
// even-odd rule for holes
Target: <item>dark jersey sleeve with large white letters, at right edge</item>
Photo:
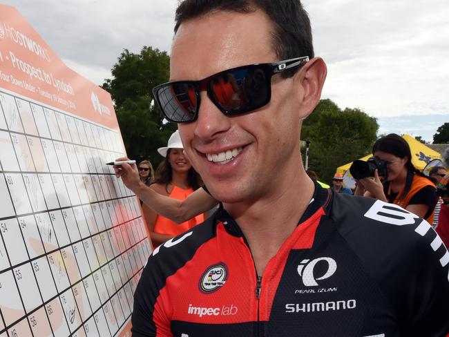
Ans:
<svg viewBox="0 0 449 337"><path fill-rule="evenodd" d="M401 336L446 336L449 253L430 224L380 200L337 198L333 218L390 302Z"/></svg>

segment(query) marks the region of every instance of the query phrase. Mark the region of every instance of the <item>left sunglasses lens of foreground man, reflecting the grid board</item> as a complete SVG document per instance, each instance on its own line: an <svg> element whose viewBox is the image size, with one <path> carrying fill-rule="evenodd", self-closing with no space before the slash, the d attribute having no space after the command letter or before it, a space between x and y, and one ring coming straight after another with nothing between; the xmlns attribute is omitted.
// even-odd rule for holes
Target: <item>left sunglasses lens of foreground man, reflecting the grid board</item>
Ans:
<svg viewBox="0 0 449 337"><path fill-rule="evenodd" d="M196 113L197 95L189 82L167 84L157 89L160 108L171 122L191 122Z"/></svg>

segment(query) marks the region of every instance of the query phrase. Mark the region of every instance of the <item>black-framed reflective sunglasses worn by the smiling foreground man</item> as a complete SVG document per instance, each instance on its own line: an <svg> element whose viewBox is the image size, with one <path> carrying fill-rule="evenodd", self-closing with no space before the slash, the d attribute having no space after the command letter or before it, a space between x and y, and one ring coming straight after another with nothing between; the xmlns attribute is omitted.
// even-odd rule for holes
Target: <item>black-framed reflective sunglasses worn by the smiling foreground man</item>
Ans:
<svg viewBox="0 0 449 337"><path fill-rule="evenodd" d="M164 117L174 123L189 123L198 118L202 90L225 115L240 115L269 103L273 75L303 66L307 61L307 56L296 57L223 70L200 81L172 81L156 86L153 95Z"/></svg>

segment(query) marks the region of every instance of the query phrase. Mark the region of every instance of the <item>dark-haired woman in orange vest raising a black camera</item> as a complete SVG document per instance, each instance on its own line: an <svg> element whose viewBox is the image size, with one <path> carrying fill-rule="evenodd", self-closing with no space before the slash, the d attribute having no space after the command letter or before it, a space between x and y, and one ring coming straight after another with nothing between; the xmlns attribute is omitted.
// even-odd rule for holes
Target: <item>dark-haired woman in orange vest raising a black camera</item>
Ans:
<svg viewBox="0 0 449 337"><path fill-rule="evenodd" d="M376 169L374 179L357 180L354 194L397 204L431 224L437 203L435 185L414 168L410 146L405 139L395 133L381 137L374 143L372 154L385 162L387 175L381 182Z"/></svg>

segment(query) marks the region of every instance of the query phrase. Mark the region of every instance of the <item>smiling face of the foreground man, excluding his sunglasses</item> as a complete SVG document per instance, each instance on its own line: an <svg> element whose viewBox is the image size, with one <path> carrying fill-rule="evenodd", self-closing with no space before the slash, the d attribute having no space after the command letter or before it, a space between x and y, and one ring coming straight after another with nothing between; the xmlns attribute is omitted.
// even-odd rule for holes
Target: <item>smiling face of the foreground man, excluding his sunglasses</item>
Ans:
<svg viewBox="0 0 449 337"><path fill-rule="evenodd" d="M171 80L199 80L229 68L278 61L270 28L259 10L215 12L182 23L173 40ZM198 119L179 129L184 151L215 198L255 201L280 193L297 177L305 116L296 81L296 76L274 75L271 102L234 117L223 115L205 91L200 93Z"/></svg>

